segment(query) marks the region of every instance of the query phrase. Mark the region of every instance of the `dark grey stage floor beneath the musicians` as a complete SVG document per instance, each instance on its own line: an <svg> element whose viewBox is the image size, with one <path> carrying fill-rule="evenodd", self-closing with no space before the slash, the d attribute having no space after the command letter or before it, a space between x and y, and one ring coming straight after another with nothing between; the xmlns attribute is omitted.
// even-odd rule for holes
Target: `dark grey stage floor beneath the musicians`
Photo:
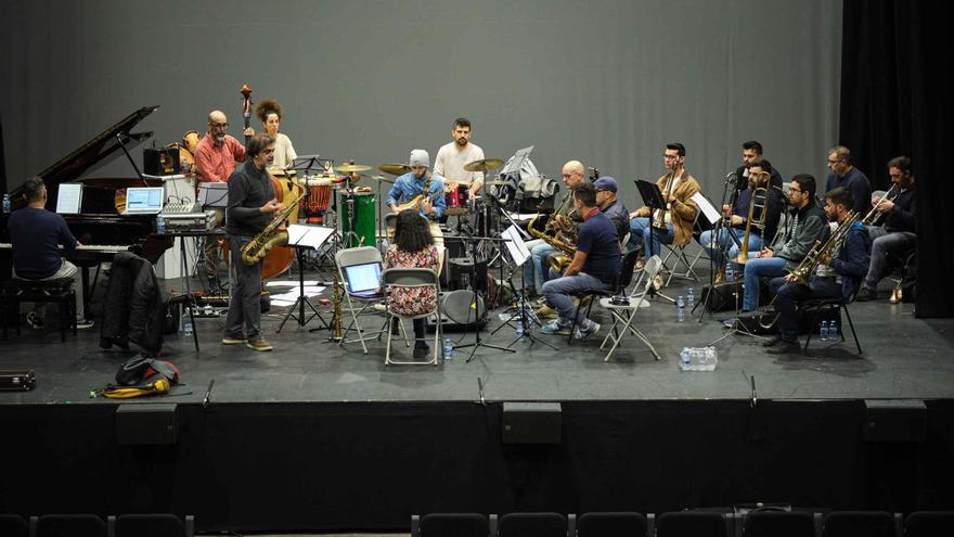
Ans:
<svg viewBox="0 0 954 537"><path fill-rule="evenodd" d="M309 278L309 276L307 276ZM172 283L172 282L170 282ZM698 294L700 284L693 284ZM682 294L687 285L667 290ZM884 294L884 293L882 293ZM607 319L605 311L594 317ZM731 335L717 345L714 372L682 372L679 353L684 346L705 346L725 333L719 320L729 314L676 321L670 304L657 301L640 314L640 328L662 355L661 361L636 340L628 340L610 362L604 362L598 336L568 346L565 337L540 335L556 345L517 343L514 354L482 348L470 363L469 349L454 351L453 359L437 367L384 366L384 342L338 347L327 343L327 331L309 333L312 321L300 329L294 321L275 334L280 315L273 308L263 320L273 353L256 353L244 346L222 346L223 319L199 319L202 345L196 355L191 338L168 337L167 359L181 370L184 386L169 400L196 402L215 379L217 402L263 401L439 401L476 400L478 379L487 400L659 400L747 399L755 376L760 398L772 399L932 399L954 397L954 320L920 320L913 305L887 301L853 304L851 314L864 354L858 357L851 337L828 348L812 342L809 356L766 355L759 340ZM493 311L490 329L500 324ZM325 317L330 317L325 315ZM383 318L365 317L365 325L379 325ZM382 320L379 320L382 319ZM846 327L847 329L847 323ZM847 331L846 331L847 332ZM485 341L506 346L514 332L504 329ZM454 342L470 342L473 333L450 333ZM847 334L848 335L848 334ZM89 392L113 380L125 356L103 351L98 330L80 331L60 343L59 333L24 329L21 336L0 342L0 369L34 369L38 386L29 393L0 394L0 404L99 402ZM409 356L402 345L395 348ZM465 351L466 350L466 351Z"/></svg>

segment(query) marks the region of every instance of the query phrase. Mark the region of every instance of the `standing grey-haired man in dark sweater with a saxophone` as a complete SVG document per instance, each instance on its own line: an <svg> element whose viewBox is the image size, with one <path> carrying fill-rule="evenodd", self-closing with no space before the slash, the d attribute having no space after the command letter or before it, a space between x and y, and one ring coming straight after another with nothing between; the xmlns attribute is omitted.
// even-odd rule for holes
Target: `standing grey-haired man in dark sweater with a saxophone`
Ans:
<svg viewBox="0 0 954 537"><path fill-rule="evenodd" d="M248 158L229 177L225 232L234 277L222 343L244 343L255 350L271 350L271 344L261 336L261 263L246 265L242 260L242 248L265 230L272 215L281 208L266 171L275 152L275 139L265 133L255 135L248 141L247 152Z"/></svg>

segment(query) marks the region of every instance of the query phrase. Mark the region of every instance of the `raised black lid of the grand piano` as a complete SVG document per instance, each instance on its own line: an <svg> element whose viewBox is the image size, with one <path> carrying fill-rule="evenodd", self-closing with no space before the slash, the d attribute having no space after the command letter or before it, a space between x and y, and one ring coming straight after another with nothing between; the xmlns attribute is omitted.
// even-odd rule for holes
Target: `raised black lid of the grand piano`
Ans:
<svg viewBox="0 0 954 537"><path fill-rule="evenodd" d="M130 130L158 107L158 105L143 106L137 110L38 175L49 188L51 184L75 181L83 174L105 166L117 154L123 153L119 140L116 139L117 135L127 150L153 136L152 131L130 132Z"/></svg>

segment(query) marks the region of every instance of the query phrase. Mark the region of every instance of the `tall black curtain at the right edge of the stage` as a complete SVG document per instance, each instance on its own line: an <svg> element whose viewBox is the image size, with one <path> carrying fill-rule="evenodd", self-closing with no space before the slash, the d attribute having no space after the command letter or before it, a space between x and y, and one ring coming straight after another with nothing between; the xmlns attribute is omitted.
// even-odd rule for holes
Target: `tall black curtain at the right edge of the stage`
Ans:
<svg viewBox="0 0 954 537"><path fill-rule="evenodd" d="M946 2L845 0L840 140L875 190L887 163L912 157L917 177L917 317L954 317L952 133L954 22Z"/></svg>

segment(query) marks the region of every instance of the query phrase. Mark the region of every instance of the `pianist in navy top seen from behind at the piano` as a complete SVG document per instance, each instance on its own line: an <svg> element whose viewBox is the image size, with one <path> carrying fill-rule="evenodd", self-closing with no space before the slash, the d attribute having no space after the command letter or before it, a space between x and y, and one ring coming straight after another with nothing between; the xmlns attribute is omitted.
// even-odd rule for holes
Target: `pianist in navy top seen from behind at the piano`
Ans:
<svg viewBox="0 0 954 537"><path fill-rule="evenodd" d="M10 215L8 229L13 246L13 277L18 280L47 281L73 278L76 290L76 328L88 329L92 321L85 319L82 283L79 270L63 258L60 246L66 254L79 245L66 226L66 220L56 213L47 210L47 187L39 177L31 177L23 186L26 206ZM27 314L30 328L43 328L44 304L37 304Z"/></svg>

